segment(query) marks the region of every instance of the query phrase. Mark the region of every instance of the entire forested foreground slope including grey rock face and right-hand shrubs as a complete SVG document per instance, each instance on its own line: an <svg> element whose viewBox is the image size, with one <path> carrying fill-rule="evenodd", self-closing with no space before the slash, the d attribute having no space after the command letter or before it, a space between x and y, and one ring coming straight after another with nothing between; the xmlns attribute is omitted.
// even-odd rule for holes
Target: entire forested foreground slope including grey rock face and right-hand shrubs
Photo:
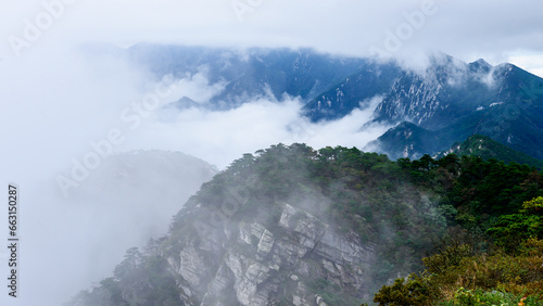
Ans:
<svg viewBox="0 0 543 306"><path fill-rule="evenodd" d="M273 145L205 183L167 235L72 304L540 303L542 183L496 160Z"/></svg>

